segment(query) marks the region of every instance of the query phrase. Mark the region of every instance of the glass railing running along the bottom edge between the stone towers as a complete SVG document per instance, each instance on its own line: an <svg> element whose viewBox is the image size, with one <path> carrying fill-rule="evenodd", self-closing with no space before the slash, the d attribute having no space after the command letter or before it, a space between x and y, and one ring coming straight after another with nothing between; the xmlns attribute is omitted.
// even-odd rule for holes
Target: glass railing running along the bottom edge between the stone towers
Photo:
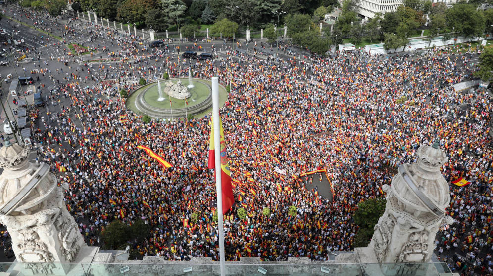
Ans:
<svg viewBox="0 0 493 276"><path fill-rule="evenodd" d="M138 261L133 261L138 262ZM0 272L9 276L219 276L219 264L196 263L0 263ZM451 273L444 262L436 263L363 263L363 264L290 264L259 263L226 265L228 276L444 276Z"/></svg>

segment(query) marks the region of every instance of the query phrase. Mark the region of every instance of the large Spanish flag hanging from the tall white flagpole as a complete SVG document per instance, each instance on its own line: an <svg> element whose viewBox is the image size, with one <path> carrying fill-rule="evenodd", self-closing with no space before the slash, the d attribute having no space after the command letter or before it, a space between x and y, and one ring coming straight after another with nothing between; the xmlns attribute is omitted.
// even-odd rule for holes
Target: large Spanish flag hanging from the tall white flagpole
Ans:
<svg viewBox="0 0 493 276"><path fill-rule="evenodd" d="M221 194L222 194L222 207L223 215L233 206L235 202L235 197L233 196L233 188L231 186L231 172L229 169L229 159L226 155L226 141L224 140L224 130L221 117L219 116L219 135L220 135L220 145L219 149L221 151ZM209 139L209 169L215 169L215 157L214 150L216 145L214 145L214 118L210 120L210 139Z"/></svg>

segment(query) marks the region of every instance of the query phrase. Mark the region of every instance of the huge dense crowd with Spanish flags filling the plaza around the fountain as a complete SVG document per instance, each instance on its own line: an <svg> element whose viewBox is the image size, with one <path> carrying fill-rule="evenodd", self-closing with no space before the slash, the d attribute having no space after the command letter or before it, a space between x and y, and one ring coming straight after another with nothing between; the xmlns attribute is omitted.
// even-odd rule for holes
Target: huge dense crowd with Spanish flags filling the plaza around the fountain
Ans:
<svg viewBox="0 0 493 276"><path fill-rule="evenodd" d="M227 260L328 260L330 252L352 250L356 204L384 197L379 188L390 184L395 168L414 162L420 145L439 139L449 160L446 180L463 177L471 184L450 186L447 213L455 222L441 227L437 255L454 271L492 273L490 95L453 88L470 75L471 53L453 54L457 48L450 46L419 57L357 50L267 61L230 51L214 62L177 59L170 55L179 51L176 45L147 49L98 30L91 39L109 39L122 50L97 55L119 62L111 70L79 64L77 74L53 79L50 99L65 97L71 104L62 107L55 126L46 123L33 133L38 160L69 185L65 201L88 244L97 243L112 221L140 219L151 227L145 241L129 240L140 255L218 259L209 117L146 124L117 96L118 89L130 92L135 80L153 80L163 68L170 77L188 76L192 68L197 78L231 83L221 109L236 199L225 215ZM101 73L121 82L83 82L106 79ZM173 167L163 168L139 145ZM305 189L298 178L317 169L327 170L333 200ZM246 209L245 218L238 208Z"/></svg>

